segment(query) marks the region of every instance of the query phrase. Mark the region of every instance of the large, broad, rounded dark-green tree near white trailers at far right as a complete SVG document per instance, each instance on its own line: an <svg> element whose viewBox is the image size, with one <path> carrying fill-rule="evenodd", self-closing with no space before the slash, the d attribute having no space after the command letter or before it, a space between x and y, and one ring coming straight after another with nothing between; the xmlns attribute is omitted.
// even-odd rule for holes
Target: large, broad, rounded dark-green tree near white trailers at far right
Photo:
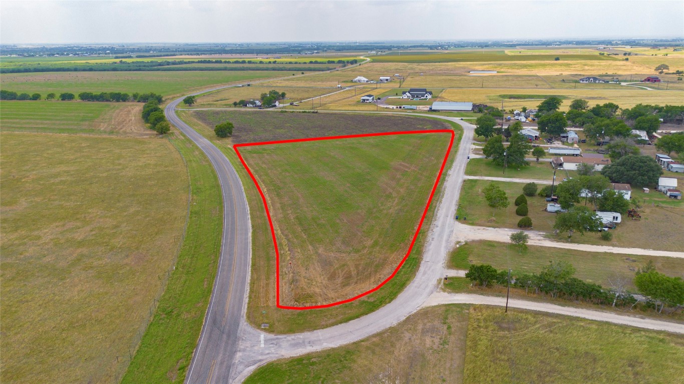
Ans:
<svg viewBox="0 0 684 384"><path fill-rule="evenodd" d="M646 187L657 184L663 169L650 156L627 155L611 165L606 165L601 174L612 182Z"/></svg>

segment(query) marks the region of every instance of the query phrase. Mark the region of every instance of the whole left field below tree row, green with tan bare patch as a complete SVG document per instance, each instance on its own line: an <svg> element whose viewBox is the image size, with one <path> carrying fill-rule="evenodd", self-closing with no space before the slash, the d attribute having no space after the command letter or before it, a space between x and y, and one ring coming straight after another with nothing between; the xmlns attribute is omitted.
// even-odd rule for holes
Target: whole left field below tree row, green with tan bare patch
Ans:
<svg viewBox="0 0 684 384"><path fill-rule="evenodd" d="M150 136L138 102L10 101L0 102L2 131L110 133Z"/></svg>

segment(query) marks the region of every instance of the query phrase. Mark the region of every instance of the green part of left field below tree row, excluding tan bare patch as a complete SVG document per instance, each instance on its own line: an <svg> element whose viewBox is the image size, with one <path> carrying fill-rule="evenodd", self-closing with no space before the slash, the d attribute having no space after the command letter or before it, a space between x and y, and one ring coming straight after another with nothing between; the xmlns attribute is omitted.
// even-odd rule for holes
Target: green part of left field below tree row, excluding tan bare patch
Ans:
<svg viewBox="0 0 684 384"><path fill-rule="evenodd" d="M2 131L51 133L105 133L99 128L105 116L110 116L129 103L70 101L8 101L0 102Z"/></svg>

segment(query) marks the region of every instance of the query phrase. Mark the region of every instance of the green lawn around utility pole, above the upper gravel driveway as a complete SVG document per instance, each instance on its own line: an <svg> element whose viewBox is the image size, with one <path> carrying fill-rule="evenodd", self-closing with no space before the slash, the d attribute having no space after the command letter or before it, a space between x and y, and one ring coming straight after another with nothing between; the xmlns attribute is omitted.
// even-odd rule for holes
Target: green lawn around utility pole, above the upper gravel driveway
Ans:
<svg viewBox="0 0 684 384"><path fill-rule="evenodd" d="M488 176L495 178L530 178L537 180L553 180L553 167L551 163L546 161L529 161L529 167L516 167L515 164L506 167L506 172L503 173L503 167L494 165L491 159L471 159L466 166L466 175L469 176ZM564 172L556 172L556 178L559 181L564 177ZM521 191L522 191L521 184ZM544 187L539 185L539 188ZM522 192L521 192L522 193Z"/></svg>

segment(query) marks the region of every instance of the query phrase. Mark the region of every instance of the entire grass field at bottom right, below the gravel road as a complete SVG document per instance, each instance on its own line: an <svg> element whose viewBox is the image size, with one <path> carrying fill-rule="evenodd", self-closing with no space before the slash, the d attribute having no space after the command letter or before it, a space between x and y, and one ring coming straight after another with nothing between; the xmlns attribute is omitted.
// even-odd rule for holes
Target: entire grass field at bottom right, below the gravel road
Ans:
<svg viewBox="0 0 684 384"><path fill-rule="evenodd" d="M669 383L681 335L484 305L439 305L347 346L257 368L253 383ZM487 369L483 369L486 364ZM661 369L661 370L660 370Z"/></svg>

